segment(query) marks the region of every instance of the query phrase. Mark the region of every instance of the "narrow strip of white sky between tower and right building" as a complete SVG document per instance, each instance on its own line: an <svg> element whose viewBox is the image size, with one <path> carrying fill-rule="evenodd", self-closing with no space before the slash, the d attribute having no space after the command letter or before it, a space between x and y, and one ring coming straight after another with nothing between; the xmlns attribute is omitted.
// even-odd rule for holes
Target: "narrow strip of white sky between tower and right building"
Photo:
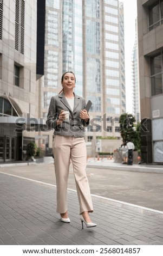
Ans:
<svg viewBox="0 0 163 256"><path fill-rule="evenodd" d="M132 52L135 43L135 19L137 17L136 0L119 0L123 2L125 27L125 78L126 78L126 112L132 113Z"/></svg>

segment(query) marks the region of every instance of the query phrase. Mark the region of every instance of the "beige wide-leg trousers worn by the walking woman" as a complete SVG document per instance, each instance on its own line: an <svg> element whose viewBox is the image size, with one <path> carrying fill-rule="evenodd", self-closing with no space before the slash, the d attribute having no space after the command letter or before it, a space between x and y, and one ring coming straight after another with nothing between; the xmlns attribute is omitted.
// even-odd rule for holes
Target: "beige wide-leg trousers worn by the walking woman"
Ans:
<svg viewBox="0 0 163 256"><path fill-rule="evenodd" d="M67 209L67 183L70 159L73 163L80 214L93 212L89 182L86 174L87 152L84 138L55 135L53 141L54 166L57 186L57 209L60 214Z"/></svg>

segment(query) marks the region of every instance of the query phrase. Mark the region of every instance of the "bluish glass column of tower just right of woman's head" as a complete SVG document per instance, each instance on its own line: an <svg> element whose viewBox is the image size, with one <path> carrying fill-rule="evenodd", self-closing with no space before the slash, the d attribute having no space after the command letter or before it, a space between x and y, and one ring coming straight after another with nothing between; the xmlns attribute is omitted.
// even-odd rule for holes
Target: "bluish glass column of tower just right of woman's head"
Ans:
<svg viewBox="0 0 163 256"><path fill-rule="evenodd" d="M93 102L91 112L102 111L101 63L100 63L100 1L87 0L86 4L86 95Z"/></svg>

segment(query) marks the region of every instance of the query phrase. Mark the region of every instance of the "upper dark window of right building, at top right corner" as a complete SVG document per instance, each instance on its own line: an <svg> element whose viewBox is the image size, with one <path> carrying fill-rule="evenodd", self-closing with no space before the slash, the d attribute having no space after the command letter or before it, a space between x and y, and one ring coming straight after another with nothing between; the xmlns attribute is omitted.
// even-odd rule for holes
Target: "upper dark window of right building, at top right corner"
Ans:
<svg viewBox="0 0 163 256"><path fill-rule="evenodd" d="M155 2L148 8L149 31L163 23L163 0Z"/></svg>

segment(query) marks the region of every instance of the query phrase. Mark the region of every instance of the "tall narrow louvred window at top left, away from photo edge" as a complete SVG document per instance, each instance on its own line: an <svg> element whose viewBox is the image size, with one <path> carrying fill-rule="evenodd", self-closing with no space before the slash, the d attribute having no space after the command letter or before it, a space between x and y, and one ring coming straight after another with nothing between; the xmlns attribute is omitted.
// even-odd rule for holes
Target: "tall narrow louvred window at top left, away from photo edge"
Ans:
<svg viewBox="0 0 163 256"><path fill-rule="evenodd" d="M15 5L15 50L24 54L24 0L16 0Z"/></svg>

